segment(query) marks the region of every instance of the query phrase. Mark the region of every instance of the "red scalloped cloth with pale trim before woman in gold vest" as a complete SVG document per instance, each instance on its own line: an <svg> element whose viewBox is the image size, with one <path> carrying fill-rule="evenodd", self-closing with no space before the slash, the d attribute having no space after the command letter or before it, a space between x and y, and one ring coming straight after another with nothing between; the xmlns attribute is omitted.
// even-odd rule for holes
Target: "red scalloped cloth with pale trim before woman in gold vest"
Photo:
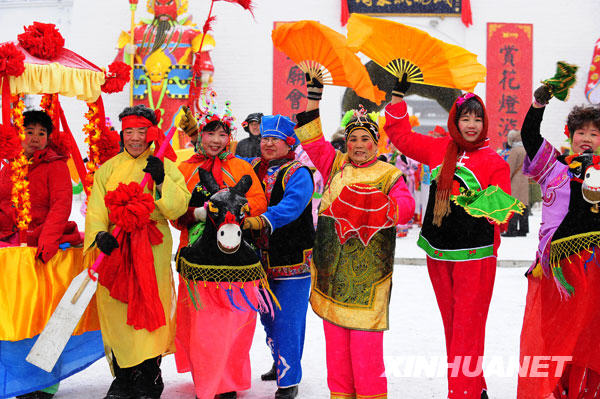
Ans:
<svg viewBox="0 0 600 399"><path fill-rule="evenodd" d="M357 237L369 245L379 230L396 225L396 205L382 191L366 184L345 186L340 195L322 213L335 220L340 243Z"/></svg>

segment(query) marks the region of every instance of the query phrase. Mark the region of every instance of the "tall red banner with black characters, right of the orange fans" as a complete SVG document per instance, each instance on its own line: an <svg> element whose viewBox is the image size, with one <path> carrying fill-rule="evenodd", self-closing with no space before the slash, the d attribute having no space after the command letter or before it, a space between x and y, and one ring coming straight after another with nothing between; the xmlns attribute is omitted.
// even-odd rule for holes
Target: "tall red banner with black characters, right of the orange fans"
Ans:
<svg viewBox="0 0 600 399"><path fill-rule="evenodd" d="M533 25L487 24L486 107L492 148L520 130L531 105Z"/></svg>

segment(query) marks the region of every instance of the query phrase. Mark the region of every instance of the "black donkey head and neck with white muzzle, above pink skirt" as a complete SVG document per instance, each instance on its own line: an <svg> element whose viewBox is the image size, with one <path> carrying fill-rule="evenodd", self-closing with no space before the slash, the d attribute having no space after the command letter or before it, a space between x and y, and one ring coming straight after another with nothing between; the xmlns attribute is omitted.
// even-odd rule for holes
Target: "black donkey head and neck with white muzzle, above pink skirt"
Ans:
<svg viewBox="0 0 600 399"><path fill-rule="evenodd" d="M203 265L236 266L257 262L258 256L243 240L240 227L249 211L245 195L252 185L252 178L245 175L235 186L222 189L210 172L199 169L198 174L198 184L210 194L206 225L202 237L182 248L179 258Z"/></svg>

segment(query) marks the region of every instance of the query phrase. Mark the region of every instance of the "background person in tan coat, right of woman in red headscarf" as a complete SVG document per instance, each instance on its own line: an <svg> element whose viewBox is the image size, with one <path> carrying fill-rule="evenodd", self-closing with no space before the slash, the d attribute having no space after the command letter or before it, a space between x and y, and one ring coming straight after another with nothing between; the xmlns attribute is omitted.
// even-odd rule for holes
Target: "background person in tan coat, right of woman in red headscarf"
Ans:
<svg viewBox="0 0 600 399"><path fill-rule="evenodd" d="M527 208L522 215L514 214L508 222L504 237L526 236L529 233L529 178L523 174L523 161L527 153L521 141L521 132L511 130L506 137L511 148L506 162L510 166L510 189L513 197L524 203Z"/></svg>

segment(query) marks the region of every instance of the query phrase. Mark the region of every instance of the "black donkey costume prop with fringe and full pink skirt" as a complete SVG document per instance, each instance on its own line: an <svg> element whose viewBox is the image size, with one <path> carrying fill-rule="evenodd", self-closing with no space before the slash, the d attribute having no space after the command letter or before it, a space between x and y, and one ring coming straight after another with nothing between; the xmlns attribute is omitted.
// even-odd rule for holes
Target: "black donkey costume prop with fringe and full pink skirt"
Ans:
<svg viewBox="0 0 600 399"><path fill-rule="evenodd" d="M221 188L211 172L197 170L190 207L201 221L177 256L177 369L192 373L198 399L235 398L251 384L256 312L274 314L265 272L240 228L254 206L255 182L243 174Z"/></svg>

